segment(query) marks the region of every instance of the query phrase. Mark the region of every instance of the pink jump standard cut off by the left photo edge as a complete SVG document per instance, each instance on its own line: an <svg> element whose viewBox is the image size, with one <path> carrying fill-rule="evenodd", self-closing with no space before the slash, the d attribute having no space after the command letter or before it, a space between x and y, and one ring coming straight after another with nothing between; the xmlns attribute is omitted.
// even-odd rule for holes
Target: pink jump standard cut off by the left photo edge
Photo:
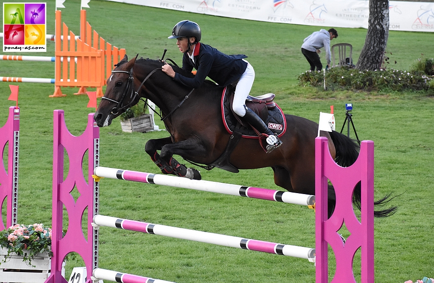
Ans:
<svg viewBox="0 0 434 283"><path fill-rule="evenodd" d="M8 143L7 172L0 162L0 210L6 204L6 227L0 213L0 230L17 224L18 209L18 161L20 148L20 108L9 107L9 116L0 127L0 160L3 159L3 148ZM4 200L7 197L7 203Z"/></svg>

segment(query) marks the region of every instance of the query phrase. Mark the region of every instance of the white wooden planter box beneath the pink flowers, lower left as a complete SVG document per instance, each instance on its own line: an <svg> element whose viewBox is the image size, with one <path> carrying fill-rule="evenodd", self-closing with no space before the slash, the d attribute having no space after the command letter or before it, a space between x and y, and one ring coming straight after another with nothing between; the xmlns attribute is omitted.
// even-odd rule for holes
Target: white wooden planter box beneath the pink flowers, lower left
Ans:
<svg viewBox="0 0 434 283"><path fill-rule="evenodd" d="M5 258L6 262L3 262ZM32 264L29 265L23 261L22 256L11 254L8 257L7 249L0 249L1 283L44 283L50 275L50 269L51 259L48 253L40 253L32 260ZM62 275L65 276L65 267L62 268Z"/></svg>

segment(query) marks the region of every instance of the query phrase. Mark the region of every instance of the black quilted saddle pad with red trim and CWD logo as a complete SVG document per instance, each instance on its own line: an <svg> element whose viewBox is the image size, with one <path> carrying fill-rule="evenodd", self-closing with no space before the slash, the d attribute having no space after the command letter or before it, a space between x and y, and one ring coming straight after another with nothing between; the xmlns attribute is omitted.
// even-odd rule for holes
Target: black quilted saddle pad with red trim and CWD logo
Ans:
<svg viewBox="0 0 434 283"><path fill-rule="evenodd" d="M221 95L221 116L223 120L223 125L226 128L227 132L232 134L238 121L232 113L232 109L230 108L230 91L228 91L227 87L223 88L223 93ZM265 124L278 136L281 136L285 133L285 115L282 109L280 109L277 104L276 107L274 107L272 110L268 110L268 117L265 121ZM236 130L242 134L243 138L259 138L256 132L251 127L247 128L241 125L240 128L237 128Z"/></svg>

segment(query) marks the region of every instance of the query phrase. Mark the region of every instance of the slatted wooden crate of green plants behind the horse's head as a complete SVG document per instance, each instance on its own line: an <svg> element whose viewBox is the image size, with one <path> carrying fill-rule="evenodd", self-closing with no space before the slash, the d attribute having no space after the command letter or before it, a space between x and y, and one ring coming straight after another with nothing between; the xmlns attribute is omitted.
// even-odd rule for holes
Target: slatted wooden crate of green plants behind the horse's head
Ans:
<svg viewBox="0 0 434 283"><path fill-rule="evenodd" d="M124 132L144 133L154 129L152 115L145 114L145 103L142 103L142 101L128 108L119 118L122 131Z"/></svg>

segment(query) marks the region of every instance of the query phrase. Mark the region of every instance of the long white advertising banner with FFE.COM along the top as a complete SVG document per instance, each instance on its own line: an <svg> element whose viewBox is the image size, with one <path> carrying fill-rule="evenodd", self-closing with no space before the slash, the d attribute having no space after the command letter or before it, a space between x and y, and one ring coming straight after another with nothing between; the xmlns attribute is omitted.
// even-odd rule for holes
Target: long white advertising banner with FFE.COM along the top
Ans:
<svg viewBox="0 0 434 283"><path fill-rule="evenodd" d="M109 0L221 17L368 28L368 0ZM389 1L392 31L434 32L434 3Z"/></svg>

